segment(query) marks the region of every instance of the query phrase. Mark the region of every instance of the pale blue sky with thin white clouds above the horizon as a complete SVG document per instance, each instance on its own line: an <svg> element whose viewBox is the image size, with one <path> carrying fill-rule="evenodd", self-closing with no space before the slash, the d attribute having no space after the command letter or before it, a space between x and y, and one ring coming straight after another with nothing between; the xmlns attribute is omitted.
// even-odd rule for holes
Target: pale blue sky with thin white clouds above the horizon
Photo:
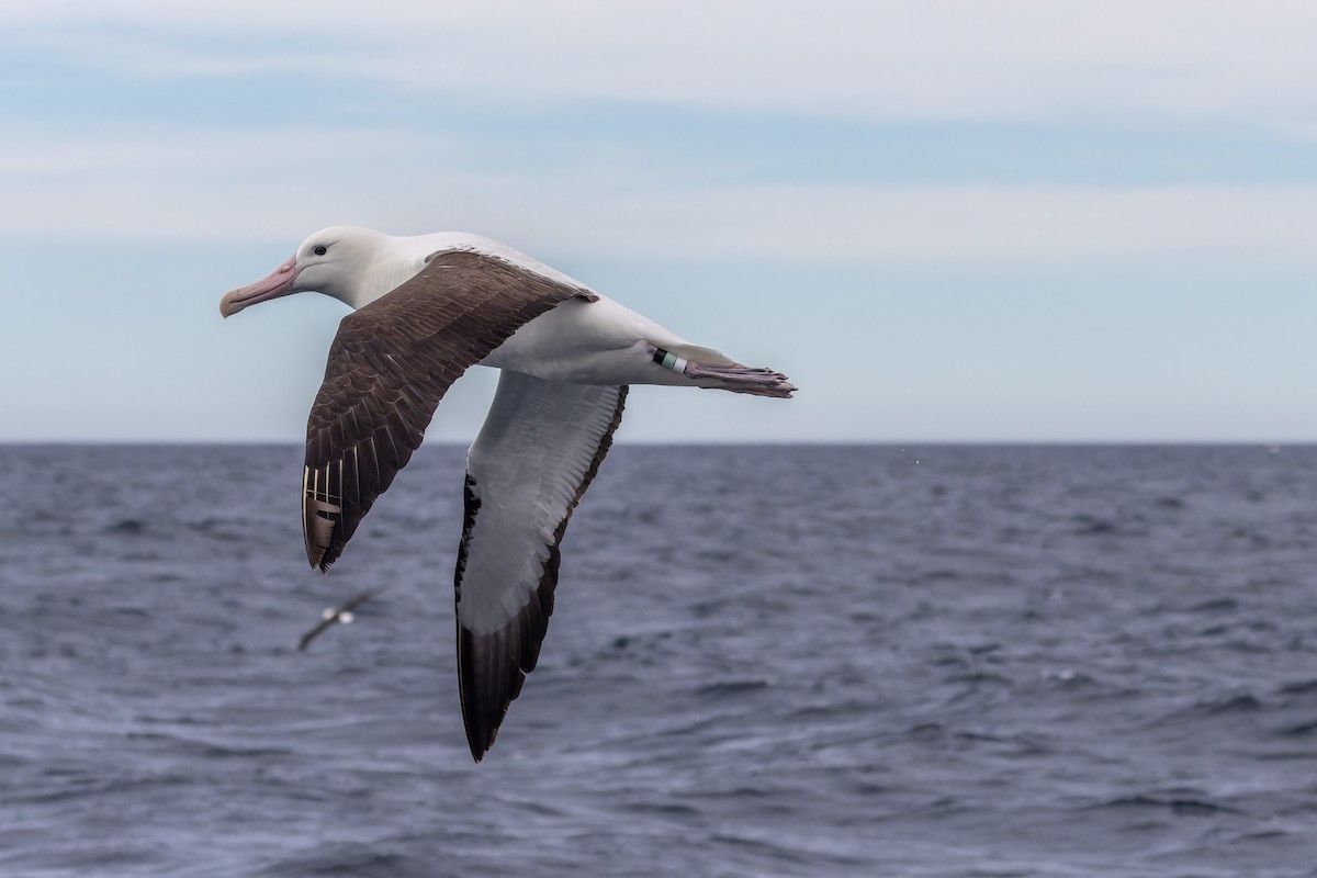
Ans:
<svg viewBox="0 0 1317 878"><path fill-rule="evenodd" d="M1284 0L0 0L0 441L302 441L344 305L217 303L337 224L801 388L635 388L619 441L1314 441L1314 45Z"/></svg>

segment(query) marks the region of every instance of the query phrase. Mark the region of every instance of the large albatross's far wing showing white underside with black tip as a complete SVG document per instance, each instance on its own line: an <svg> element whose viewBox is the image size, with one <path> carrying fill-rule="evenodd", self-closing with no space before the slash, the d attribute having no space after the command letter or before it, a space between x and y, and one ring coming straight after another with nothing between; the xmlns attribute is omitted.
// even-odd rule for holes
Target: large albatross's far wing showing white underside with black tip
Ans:
<svg viewBox="0 0 1317 878"><path fill-rule="evenodd" d="M626 387L504 371L468 453L454 577L457 675L477 762L539 658L558 544L612 444L626 399Z"/></svg>

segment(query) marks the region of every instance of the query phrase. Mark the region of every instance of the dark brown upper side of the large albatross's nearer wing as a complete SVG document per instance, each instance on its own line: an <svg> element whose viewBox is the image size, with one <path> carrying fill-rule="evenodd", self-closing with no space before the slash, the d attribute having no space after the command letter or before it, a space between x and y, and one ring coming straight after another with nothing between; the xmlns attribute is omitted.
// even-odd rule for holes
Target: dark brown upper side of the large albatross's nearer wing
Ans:
<svg viewBox="0 0 1317 878"><path fill-rule="evenodd" d="M396 290L344 317L307 420L302 532L328 570L420 445L439 400L523 324L582 288L503 259L435 254Z"/></svg>

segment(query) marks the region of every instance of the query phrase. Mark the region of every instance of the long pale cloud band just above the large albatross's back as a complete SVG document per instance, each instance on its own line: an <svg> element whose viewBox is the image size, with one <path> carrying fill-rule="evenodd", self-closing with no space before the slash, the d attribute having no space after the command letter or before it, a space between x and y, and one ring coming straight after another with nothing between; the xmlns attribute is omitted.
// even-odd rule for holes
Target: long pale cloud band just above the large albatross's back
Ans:
<svg viewBox="0 0 1317 878"><path fill-rule="evenodd" d="M306 146L313 143L315 149ZM1204 254L1312 266L1317 186L673 186L640 170L443 170L443 138L332 129L0 142L0 233L287 241L464 228L540 253L1063 265ZM124 208L130 205L130 209Z"/></svg>

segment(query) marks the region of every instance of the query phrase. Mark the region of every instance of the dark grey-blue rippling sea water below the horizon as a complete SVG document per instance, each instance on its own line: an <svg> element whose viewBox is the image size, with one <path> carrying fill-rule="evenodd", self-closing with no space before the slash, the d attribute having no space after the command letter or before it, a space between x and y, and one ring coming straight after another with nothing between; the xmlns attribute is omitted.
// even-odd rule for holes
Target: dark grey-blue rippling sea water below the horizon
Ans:
<svg viewBox="0 0 1317 878"><path fill-rule="evenodd" d="M1317 449L620 446L483 765L462 458L0 448L0 875L1317 874Z"/></svg>

